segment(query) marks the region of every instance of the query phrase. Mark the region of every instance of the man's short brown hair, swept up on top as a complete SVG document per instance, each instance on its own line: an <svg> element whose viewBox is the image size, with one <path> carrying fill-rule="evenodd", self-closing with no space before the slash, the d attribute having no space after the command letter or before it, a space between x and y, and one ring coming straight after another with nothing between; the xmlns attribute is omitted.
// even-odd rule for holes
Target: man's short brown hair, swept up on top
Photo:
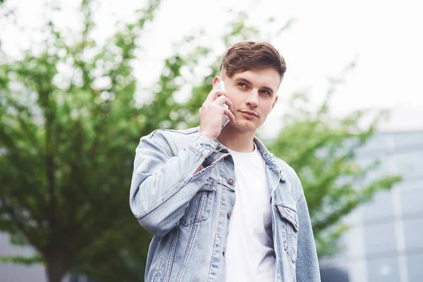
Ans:
<svg viewBox="0 0 423 282"><path fill-rule="evenodd" d="M286 63L278 50L268 42L243 41L233 44L223 54L220 71L226 69L231 78L243 71L274 68L283 77Z"/></svg>

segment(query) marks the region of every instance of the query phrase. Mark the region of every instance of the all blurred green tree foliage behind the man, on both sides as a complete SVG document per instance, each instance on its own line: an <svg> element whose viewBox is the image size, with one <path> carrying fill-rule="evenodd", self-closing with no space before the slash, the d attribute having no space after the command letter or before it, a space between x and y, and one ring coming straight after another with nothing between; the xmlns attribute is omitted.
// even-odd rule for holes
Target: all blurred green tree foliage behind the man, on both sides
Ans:
<svg viewBox="0 0 423 282"><path fill-rule="evenodd" d="M150 1L138 20L122 25L99 47L90 36L92 6L82 1L84 28L73 35L75 42L48 23L43 51L28 50L14 61L0 53L0 231L36 251L5 261L43 262L52 282L66 272L100 281L142 281L151 236L128 207L135 147L156 128L197 125L197 109L219 67L214 50L198 43L207 35L187 37L164 61L151 99L137 103L131 63L159 4ZM235 18L223 46L269 38L246 21L245 13ZM181 47L190 51L178 51ZM204 61L214 63L200 82L182 75L186 68L195 77L195 67ZM187 102L177 102L181 85L192 85L185 90ZM302 179L321 254L333 252L329 243L345 230L343 215L398 180L353 185L368 171L355 164L354 153L372 136L377 119L362 130L355 126L362 112L332 118L331 94L317 113L296 106L307 96L294 96L285 127L269 142Z"/></svg>

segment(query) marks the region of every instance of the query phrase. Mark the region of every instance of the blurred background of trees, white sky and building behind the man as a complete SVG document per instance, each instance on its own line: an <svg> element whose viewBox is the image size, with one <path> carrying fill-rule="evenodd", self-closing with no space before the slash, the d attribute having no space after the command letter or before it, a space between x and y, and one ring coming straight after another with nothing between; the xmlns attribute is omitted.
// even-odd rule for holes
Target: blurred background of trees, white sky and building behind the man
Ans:
<svg viewBox="0 0 423 282"><path fill-rule="evenodd" d="M143 281L135 147L197 126L244 39L286 59L258 135L302 180L322 281L423 281L422 6L0 0L0 281Z"/></svg>

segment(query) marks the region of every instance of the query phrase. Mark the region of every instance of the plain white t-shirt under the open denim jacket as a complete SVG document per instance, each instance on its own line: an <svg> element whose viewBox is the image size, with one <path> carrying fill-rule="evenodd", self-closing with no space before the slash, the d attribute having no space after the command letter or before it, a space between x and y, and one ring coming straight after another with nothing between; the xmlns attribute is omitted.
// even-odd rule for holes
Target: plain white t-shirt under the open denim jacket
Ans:
<svg viewBox="0 0 423 282"><path fill-rule="evenodd" d="M271 204L264 160L229 150L235 163L235 205L226 242L226 282L275 279Z"/></svg>

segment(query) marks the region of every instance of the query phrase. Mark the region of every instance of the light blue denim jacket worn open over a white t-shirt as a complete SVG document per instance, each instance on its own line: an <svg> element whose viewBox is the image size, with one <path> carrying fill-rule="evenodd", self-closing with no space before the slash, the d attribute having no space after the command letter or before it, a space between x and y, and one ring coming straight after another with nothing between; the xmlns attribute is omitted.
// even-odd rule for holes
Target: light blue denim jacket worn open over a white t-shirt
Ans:
<svg viewBox="0 0 423 282"><path fill-rule="evenodd" d="M274 157L262 142L257 138L254 142L264 159L269 183L275 281L320 281L300 180L293 168ZM228 149L202 135L199 128L155 130L141 138L130 209L154 235L146 282L225 281L225 246L236 185Z"/></svg>

